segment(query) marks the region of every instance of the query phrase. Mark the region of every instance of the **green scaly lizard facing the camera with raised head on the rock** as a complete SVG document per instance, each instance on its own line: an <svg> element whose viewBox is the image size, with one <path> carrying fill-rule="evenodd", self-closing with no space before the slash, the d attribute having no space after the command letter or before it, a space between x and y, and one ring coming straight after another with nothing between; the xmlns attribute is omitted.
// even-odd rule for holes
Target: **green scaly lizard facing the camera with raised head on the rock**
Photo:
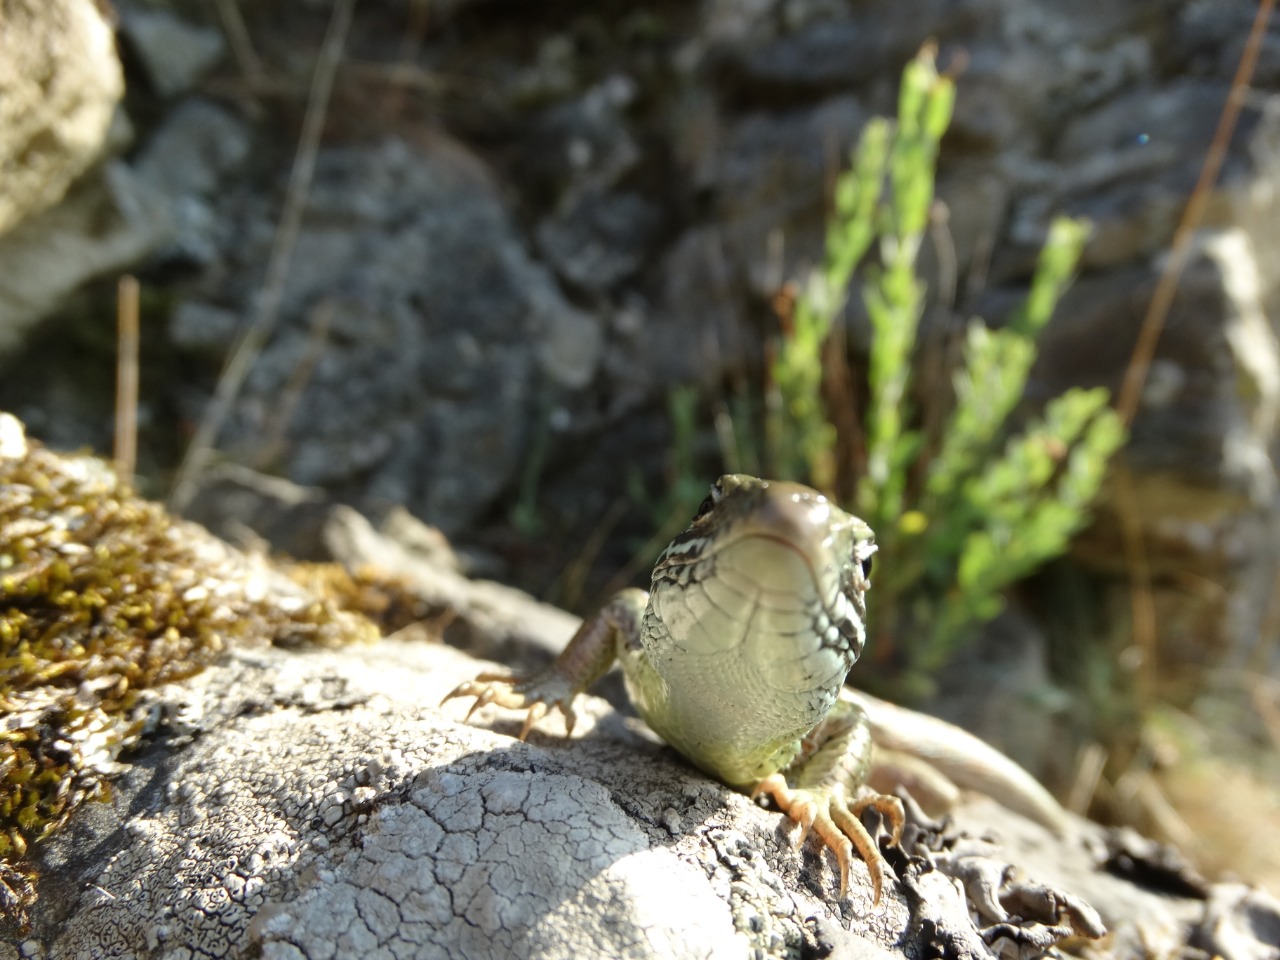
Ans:
<svg viewBox="0 0 1280 960"><path fill-rule="evenodd" d="M1062 831L1065 813L1030 774L943 721L845 689L867 640L870 527L797 483L730 474L659 556L648 591L614 594L531 677L480 673L444 700L526 712L520 739L614 662L640 717L722 783L769 796L835 852L840 897L854 850L879 902L888 863L861 823L876 810L900 841L902 803L872 791L873 744L925 764L927 781L973 785ZM934 772L934 767L940 772ZM937 780L934 780L937 778ZM951 787L954 792L954 787Z"/></svg>

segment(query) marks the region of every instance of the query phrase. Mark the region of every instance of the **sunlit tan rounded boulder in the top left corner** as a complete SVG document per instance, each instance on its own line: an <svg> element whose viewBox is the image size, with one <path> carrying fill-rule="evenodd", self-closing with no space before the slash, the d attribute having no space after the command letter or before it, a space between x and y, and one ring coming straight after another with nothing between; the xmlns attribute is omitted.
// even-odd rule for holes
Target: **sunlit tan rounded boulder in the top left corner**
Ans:
<svg viewBox="0 0 1280 960"><path fill-rule="evenodd" d="M93 0L13 0L0 29L0 234L99 159L124 77ZM0 311L3 315L3 311ZM6 324L0 320L0 328Z"/></svg>

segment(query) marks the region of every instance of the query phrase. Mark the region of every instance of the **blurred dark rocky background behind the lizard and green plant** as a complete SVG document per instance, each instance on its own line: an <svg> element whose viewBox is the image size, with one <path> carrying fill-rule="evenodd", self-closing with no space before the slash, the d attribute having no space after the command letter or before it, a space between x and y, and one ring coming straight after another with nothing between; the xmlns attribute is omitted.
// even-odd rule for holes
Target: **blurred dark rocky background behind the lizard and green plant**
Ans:
<svg viewBox="0 0 1280 960"><path fill-rule="evenodd" d="M819 255L835 172L925 40L960 70L925 329L998 324L1051 216L1087 215L1028 404L1116 390L1254 4L364 0L273 273L333 10L0 6L0 408L109 452L115 284L137 275L138 484L164 498L265 311L189 516L307 558L326 504L403 504L474 571L582 609L620 571L644 580L675 388L701 392L698 466L721 472L713 413L763 381L771 301ZM1137 731L1119 691L1142 669L1179 709L1211 704L1247 765L1275 765L1277 91L1272 22L1124 453L1156 649L1132 639L1108 500L945 685L945 713L1061 786L1080 744ZM1043 723L1010 721L1011 701ZM1169 764L1183 736L1135 732L1130 759ZM1184 815L1280 818L1274 794L1233 782L1228 805L1211 781Z"/></svg>

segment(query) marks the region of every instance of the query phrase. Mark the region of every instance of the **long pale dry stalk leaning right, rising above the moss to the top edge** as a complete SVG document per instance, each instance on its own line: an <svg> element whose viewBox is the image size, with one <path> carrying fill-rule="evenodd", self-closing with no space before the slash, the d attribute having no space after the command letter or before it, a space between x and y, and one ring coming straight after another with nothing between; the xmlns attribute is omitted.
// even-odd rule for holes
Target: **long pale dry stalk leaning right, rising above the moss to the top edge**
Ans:
<svg viewBox="0 0 1280 960"><path fill-rule="evenodd" d="M329 19L329 31L325 35L324 45L320 47L315 74L311 81L307 111L302 120L302 133L298 137L293 169L289 172L289 186L285 191L284 209L280 212L280 221L275 229L275 239L271 244L271 255L266 266L266 279L262 283L257 311L255 312L252 324L250 324L250 328L232 349L227 367L218 381L214 398L205 410L205 415L201 417L196 428L196 434L187 448L187 454L178 467L173 490L169 494L169 508L175 512L180 512L191 500L196 480L212 453L214 444L218 442L218 433L227 421L232 403L244 385L244 379L248 376L248 371L252 369L259 353L262 352L262 347L266 344L279 316L280 302L284 298L284 280L289 273L293 247L297 242L298 229L302 225L302 214L306 207L307 193L311 189L316 154L320 148L320 134L324 131L325 115L329 109L329 96L333 92L334 77L342 63L355 4L356 0L337 0L334 3L333 15Z"/></svg>

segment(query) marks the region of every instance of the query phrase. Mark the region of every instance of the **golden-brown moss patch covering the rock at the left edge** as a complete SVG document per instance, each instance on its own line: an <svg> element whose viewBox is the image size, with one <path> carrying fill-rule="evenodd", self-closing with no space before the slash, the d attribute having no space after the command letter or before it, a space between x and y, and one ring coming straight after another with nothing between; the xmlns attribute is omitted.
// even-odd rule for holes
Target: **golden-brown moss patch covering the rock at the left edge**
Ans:
<svg viewBox="0 0 1280 960"><path fill-rule="evenodd" d="M29 902L32 845L108 796L147 721L143 691L233 643L376 636L138 498L104 462L52 453L0 413L0 908Z"/></svg>

